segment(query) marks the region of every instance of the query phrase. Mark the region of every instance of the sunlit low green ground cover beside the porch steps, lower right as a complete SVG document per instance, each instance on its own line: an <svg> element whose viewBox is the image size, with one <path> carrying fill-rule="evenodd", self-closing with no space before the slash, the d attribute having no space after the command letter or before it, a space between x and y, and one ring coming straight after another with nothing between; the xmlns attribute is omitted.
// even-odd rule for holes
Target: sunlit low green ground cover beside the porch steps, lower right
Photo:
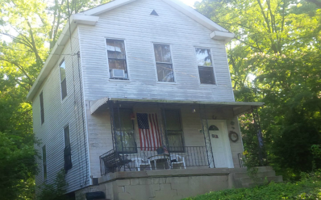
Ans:
<svg viewBox="0 0 321 200"><path fill-rule="evenodd" d="M302 173L298 182L274 183L256 186L254 188L227 189L213 191L197 197L185 198L183 200L282 200L282 199L305 199L314 200L321 198L320 172L313 174Z"/></svg>

